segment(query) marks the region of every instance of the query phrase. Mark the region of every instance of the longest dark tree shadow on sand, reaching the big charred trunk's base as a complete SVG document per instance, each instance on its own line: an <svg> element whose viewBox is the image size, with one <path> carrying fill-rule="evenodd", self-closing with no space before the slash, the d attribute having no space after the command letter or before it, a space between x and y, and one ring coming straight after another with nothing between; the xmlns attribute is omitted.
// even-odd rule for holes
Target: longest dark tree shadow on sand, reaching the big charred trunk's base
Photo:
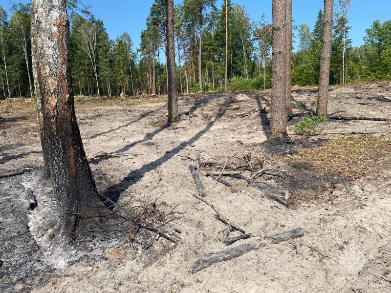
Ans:
<svg viewBox="0 0 391 293"><path fill-rule="evenodd" d="M221 118L226 111L226 107L223 105L220 107L215 119L208 123L204 129L198 131L191 139L189 139L187 142L181 142L178 146L175 146L173 149L170 151L167 151L161 158L148 163L138 170L134 170L133 172L128 173L128 175L120 182L117 184L114 184L104 191L106 196L108 196L112 201L118 202L121 192L125 191L128 189L131 185L137 183L141 178L144 177L144 175L153 169L157 168L161 164L167 162L170 160L174 155L179 153L182 149L184 149L187 145L192 145L197 141L204 133L209 131L211 127L215 124L216 121ZM105 202L105 199L102 199L103 202Z"/></svg>

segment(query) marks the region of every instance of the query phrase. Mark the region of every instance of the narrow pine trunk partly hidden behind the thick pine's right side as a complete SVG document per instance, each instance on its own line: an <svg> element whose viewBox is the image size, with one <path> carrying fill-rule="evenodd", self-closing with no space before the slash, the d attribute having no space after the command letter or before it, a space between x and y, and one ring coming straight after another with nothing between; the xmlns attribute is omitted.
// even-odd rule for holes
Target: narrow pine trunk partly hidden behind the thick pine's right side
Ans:
<svg viewBox="0 0 391 293"><path fill-rule="evenodd" d="M286 109L292 115L292 0L286 1Z"/></svg>

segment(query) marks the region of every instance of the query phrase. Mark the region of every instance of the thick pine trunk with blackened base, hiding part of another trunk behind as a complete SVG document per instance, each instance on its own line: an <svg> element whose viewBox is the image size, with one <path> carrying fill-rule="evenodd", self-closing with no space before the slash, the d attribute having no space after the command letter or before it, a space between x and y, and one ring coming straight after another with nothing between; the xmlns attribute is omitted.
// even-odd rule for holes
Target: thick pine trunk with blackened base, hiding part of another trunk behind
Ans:
<svg viewBox="0 0 391 293"><path fill-rule="evenodd" d="M286 131L286 0L272 0L273 50L272 50L272 109L268 142L289 140Z"/></svg>

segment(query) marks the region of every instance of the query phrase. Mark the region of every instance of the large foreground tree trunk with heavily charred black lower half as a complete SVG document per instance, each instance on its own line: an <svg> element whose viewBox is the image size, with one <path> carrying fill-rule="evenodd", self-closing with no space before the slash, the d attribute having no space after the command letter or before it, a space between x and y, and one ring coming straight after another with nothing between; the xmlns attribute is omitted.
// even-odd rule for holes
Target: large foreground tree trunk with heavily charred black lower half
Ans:
<svg viewBox="0 0 391 293"><path fill-rule="evenodd" d="M31 17L43 152L67 233L102 205L74 111L65 0L33 0Z"/></svg>

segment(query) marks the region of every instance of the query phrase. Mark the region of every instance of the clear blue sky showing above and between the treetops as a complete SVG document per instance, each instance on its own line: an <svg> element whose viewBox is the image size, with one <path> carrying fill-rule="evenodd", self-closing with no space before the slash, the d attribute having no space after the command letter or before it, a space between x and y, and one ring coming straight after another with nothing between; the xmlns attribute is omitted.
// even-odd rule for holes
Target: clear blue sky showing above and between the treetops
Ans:
<svg viewBox="0 0 391 293"><path fill-rule="evenodd" d="M23 1L24 2L24 1ZM133 41L134 47L140 44L141 30L146 28L145 20L150 12L154 0L82 0L87 5L92 5L91 12L96 19L101 19L111 39L115 39L124 31L127 31ZM175 1L177 4L180 1ZM217 7L221 7L222 0L217 0ZM266 15L266 21L271 22L271 0L232 0L233 3L245 5L253 21L260 21L261 15ZM338 0L334 0L338 2ZM350 9L349 23L351 26L349 38L352 46L364 44L365 30L373 21L381 22L391 20L390 0L351 0L354 3ZM9 12L10 2L2 4ZM293 0L293 19L295 25L306 23L313 28L319 9L323 9L322 0Z"/></svg>

